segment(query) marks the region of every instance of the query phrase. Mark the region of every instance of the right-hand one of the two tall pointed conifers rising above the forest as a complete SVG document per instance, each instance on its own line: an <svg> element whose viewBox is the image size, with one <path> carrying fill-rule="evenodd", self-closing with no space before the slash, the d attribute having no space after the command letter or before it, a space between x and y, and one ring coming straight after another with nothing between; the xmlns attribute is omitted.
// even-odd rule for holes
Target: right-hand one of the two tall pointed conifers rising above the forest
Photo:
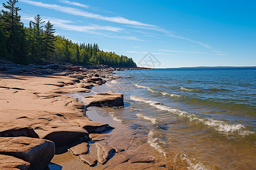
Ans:
<svg viewBox="0 0 256 170"><path fill-rule="evenodd" d="M55 33L55 29L53 29L53 24L49 21L44 26L46 31L44 31L43 37L43 45L44 45L44 62L47 62L47 57L52 57L52 53L54 52L54 41L55 37L53 33Z"/></svg>

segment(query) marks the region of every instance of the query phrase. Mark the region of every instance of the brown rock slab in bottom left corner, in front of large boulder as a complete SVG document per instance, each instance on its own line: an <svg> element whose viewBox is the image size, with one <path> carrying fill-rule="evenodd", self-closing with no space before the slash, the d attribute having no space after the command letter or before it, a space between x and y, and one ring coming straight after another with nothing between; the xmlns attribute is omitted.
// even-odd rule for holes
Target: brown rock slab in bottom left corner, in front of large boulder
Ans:
<svg viewBox="0 0 256 170"><path fill-rule="evenodd" d="M30 163L25 162L22 159L15 158L8 155L0 155L0 169L22 169L27 170L30 167Z"/></svg>

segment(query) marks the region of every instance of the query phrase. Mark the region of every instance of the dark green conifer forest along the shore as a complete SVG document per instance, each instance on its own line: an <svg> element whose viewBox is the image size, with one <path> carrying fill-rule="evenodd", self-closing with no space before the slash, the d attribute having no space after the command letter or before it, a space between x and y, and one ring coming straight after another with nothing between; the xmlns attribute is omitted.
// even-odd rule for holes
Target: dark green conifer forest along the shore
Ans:
<svg viewBox="0 0 256 170"><path fill-rule="evenodd" d="M136 67L132 58L100 50L98 44L77 44L64 36L54 35L53 24L40 15L24 27L16 6L18 0L3 3L0 12L0 56L21 64L73 63Z"/></svg>

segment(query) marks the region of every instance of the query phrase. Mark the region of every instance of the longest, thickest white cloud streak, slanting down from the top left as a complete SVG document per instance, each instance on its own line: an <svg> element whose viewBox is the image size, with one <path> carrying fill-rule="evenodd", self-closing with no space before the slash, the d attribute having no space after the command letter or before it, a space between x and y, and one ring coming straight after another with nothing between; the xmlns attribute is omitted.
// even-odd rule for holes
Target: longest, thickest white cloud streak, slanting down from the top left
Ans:
<svg viewBox="0 0 256 170"><path fill-rule="evenodd" d="M65 12L65 13L71 14L71 15L106 20L108 22L129 24L129 25L142 25L142 26L146 26L146 27L155 27L155 25L145 24L145 23L138 22L135 20L129 20L126 18L122 18L121 16L115 16L115 17L103 16L103 15L98 15L98 14L93 14L90 12L82 11L78 8L64 7L64 6L60 6L60 5L30 1L30 0L20 0L20 2L27 3L27 4L34 5L34 6L48 8L48 9L55 10L55 11Z"/></svg>

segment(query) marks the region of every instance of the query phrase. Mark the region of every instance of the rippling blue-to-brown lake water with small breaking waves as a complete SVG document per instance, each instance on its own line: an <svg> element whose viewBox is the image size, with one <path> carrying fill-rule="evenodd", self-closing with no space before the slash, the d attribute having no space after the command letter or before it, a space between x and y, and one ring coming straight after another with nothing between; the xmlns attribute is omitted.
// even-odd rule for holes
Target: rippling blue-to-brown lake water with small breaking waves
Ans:
<svg viewBox="0 0 256 170"><path fill-rule="evenodd" d="M138 130L160 161L178 169L256 168L256 69L115 73L123 78L93 91L125 94L124 108L106 112Z"/></svg>

